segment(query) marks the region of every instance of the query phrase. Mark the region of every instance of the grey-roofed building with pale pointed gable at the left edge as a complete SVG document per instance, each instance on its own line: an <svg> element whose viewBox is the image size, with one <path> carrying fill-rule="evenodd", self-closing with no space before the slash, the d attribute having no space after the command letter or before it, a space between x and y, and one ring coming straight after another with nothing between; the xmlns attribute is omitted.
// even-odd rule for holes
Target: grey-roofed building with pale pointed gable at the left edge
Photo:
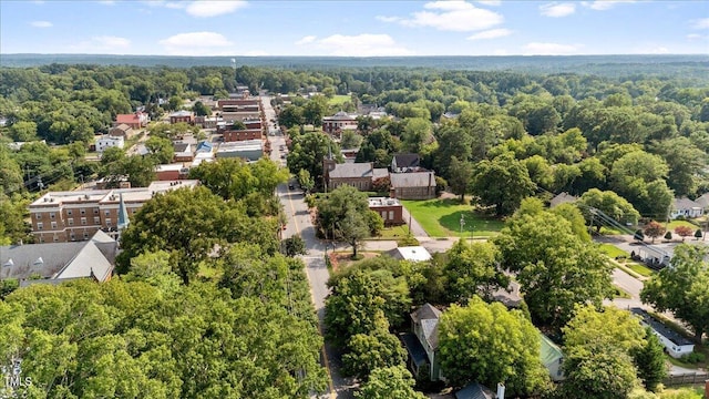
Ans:
<svg viewBox="0 0 709 399"><path fill-rule="evenodd" d="M117 243L97 231L90 241L0 247L0 280L16 278L20 286L59 284L76 278L111 279Z"/></svg>

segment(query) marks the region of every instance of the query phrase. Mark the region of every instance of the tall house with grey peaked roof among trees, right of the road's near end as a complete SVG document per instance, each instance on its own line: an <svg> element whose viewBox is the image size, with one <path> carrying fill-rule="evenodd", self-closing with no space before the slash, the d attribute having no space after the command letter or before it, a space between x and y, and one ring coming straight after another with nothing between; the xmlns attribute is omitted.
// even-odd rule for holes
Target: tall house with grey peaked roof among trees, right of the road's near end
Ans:
<svg viewBox="0 0 709 399"><path fill-rule="evenodd" d="M409 368L417 378L428 377L431 381L444 379L438 359L441 310L425 304L410 316L413 334L401 336L409 352Z"/></svg>

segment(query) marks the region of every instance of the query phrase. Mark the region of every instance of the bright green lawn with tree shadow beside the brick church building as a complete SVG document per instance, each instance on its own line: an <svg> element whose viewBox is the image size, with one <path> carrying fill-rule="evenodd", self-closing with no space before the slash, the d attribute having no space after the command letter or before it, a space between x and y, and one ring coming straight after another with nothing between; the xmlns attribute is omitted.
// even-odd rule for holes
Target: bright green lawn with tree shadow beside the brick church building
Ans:
<svg viewBox="0 0 709 399"><path fill-rule="evenodd" d="M431 237L490 237L497 235L504 222L482 216L458 200L402 201L403 206ZM461 234L461 215L464 218Z"/></svg>

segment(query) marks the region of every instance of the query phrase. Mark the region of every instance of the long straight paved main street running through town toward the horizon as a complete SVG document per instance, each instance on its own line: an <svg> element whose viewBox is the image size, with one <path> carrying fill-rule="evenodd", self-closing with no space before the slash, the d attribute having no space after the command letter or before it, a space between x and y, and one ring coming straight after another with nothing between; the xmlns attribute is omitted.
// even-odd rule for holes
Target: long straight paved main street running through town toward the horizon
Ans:
<svg viewBox="0 0 709 399"><path fill-rule="evenodd" d="M261 96L261 102L266 120L269 124L268 130L270 131L271 129L276 129L270 122L270 120L275 119L276 115L274 109L270 106L270 98ZM285 145L285 137L282 135L276 135L269 136L269 139L273 150L270 154L271 160L285 164L280 158L280 145ZM281 184L277 188L277 194L280 198L280 203L284 205L284 211L288 219L286 229L282 232L284 238L300 235L306 243L308 254L302 256L302 260L306 264L306 274L308 276L308 283L310 284L310 294L318 315L320 334L322 334L325 331L325 298L330 293L327 287L330 274L325 264L326 246L316 237L315 227L310 221L308 205L305 203L305 195L302 192L288 190L286 184ZM340 355L330 345L326 344L321 358L328 372L328 392L325 395L325 398L352 398L353 389L351 381L342 378L339 374L341 366Z"/></svg>

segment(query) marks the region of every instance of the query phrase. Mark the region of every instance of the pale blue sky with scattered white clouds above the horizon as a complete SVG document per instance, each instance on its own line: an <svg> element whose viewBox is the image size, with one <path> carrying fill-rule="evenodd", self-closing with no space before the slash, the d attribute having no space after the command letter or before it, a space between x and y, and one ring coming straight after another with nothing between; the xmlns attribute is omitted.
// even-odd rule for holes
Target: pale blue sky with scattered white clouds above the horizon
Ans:
<svg viewBox="0 0 709 399"><path fill-rule="evenodd" d="M0 53L707 54L709 1L0 0Z"/></svg>

